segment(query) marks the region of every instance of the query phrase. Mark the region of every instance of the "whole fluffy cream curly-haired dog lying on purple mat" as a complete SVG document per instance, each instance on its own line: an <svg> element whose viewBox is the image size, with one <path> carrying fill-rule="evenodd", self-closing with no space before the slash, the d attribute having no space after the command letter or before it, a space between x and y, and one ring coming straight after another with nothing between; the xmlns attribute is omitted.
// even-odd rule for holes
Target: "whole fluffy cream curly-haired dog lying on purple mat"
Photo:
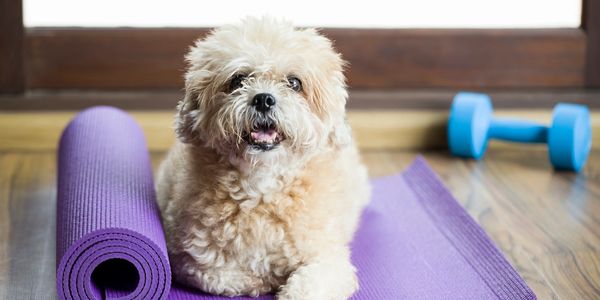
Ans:
<svg viewBox="0 0 600 300"><path fill-rule="evenodd" d="M157 174L174 280L226 296L350 297L348 244L370 187L332 42L249 17L186 61L177 141Z"/></svg>

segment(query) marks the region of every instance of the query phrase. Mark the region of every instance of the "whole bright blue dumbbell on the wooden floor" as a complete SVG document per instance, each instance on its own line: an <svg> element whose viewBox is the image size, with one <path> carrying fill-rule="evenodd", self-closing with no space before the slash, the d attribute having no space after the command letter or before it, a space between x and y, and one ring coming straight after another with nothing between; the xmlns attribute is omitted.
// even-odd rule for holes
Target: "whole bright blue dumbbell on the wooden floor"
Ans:
<svg viewBox="0 0 600 300"><path fill-rule="evenodd" d="M479 159L489 139L522 143L548 143L556 169L579 171L592 146L589 110L584 105L560 103L552 112L550 127L533 122L497 119L486 94L460 92L454 97L448 121L450 152Z"/></svg>

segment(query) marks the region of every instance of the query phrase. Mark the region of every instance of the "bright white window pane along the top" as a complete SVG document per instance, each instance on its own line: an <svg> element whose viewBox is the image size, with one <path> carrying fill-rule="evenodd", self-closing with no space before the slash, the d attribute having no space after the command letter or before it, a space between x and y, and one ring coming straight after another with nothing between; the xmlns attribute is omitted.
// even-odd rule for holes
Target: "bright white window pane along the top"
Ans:
<svg viewBox="0 0 600 300"><path fill-rule="evenodd" d="M581 22L577 0L24 0L24 6L28 27L212 27L265 13L318 27L576 28Z"/></svg>

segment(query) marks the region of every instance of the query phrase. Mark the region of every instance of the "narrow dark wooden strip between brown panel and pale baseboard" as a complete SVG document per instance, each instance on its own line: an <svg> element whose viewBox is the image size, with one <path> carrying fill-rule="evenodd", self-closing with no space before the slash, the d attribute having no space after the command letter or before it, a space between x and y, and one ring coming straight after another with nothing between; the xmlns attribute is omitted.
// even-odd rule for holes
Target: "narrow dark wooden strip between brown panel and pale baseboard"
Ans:
<svg viewBox="0 0 600 300"><path fill-rule="evenodd" d="M537 108L550 111L558 102L581 103L600 109L600 90L485 90L498 109ZM348 109L448 110L456 90L350 90ZM181 90L140 91L30 91L24 95L0 96L0 111L81 110L110 105L127 110L172 110Z"/></svg>

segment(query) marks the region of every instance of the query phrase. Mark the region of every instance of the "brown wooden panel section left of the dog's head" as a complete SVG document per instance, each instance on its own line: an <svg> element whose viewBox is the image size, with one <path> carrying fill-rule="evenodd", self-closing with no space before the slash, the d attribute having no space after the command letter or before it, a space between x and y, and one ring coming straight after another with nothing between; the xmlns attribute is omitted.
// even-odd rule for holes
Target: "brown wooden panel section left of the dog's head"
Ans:
<svg viewBox="0 0 600 300"><path fill-rule="evenodd" d="M193 29L28 29L27 86L62 89L182 87Z"/></svg>

